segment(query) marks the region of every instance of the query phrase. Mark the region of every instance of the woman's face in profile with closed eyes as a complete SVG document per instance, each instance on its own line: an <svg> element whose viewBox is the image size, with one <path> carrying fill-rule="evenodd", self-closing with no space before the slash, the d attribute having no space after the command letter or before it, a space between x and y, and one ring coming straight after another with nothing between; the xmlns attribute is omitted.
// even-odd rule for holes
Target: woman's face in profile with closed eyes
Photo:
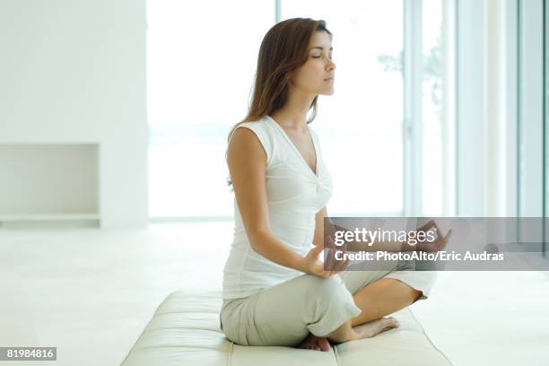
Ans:
<svg viewBox="0 0 549 366"><path fill-rule="evenodd" d="M334 93L335 63L332 61L332 41L325 30L316 31L310 39L308 59L293 72L291 84L301 92L323 95Z"/></svg>

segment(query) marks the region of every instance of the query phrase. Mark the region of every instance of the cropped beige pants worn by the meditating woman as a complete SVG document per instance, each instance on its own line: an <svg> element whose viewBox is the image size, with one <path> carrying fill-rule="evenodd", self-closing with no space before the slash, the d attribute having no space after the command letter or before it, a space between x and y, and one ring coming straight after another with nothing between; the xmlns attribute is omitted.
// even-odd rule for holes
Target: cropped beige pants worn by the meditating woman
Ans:
<svg viewBox="0 0 549 366"><path fill-rule="evenodd" d="M388 267L389 268L389 267ZM379 278L400 280L428 298L435 271L414 271L413 263L396 263L393 269L351 271L328 278L302 274L247 298L224 300L220 314L223 333L241 345L300 344L309 335L327 335L362 310L353 293Z"/></svg>

